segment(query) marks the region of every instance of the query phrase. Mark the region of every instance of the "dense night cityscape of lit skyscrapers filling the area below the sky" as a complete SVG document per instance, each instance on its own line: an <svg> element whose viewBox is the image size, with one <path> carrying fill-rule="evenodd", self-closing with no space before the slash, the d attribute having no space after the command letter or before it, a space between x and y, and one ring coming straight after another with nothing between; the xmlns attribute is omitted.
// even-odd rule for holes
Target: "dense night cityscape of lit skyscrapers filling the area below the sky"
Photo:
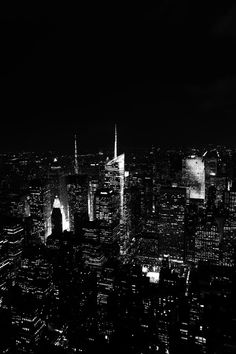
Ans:
<svg viewBox="0 0 236 354"><path fill-rule="evenodd" d="M236 151L117 140L1 156L1 352L235 352Z"/></svg>

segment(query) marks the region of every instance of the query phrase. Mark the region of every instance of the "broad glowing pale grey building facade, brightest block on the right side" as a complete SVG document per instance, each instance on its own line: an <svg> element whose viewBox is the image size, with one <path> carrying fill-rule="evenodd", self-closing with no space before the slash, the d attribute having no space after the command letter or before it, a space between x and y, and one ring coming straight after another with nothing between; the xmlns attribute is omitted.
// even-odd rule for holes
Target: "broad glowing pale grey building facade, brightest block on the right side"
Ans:
<svg viewBox="0 0 236 354"><path fill-rule="evenodd" d="M183 160L183 183L189 187L190 199L205 200L205 166L201 157L190 156Z"/></svg>

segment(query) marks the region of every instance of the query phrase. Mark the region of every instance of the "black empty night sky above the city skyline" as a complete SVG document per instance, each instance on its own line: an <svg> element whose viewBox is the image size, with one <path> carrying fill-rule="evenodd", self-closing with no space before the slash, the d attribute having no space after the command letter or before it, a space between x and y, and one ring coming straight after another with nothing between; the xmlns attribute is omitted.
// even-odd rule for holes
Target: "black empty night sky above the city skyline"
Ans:
<svg viewBox="0 0 236 354"><path fill-rule="evenodd" d="M205 3L2 12L0 149L236 143L236 5Z"/></svg>

